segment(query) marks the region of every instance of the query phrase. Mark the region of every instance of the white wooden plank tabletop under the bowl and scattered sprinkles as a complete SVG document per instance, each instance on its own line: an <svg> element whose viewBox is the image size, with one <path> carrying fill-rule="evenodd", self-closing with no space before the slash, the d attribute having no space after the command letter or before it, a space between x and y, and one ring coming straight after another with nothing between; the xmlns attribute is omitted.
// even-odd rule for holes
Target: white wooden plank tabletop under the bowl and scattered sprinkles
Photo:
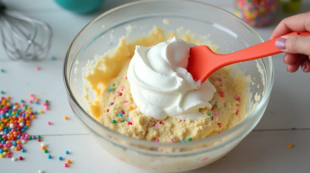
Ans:
<svg viewBox="0 0 310 173"><path fill-rule="evenodd" d="M47 58L42 62L28 63L12 62L0 46L0 68L6 70L5 73L0 73L0 90L4 90L15 101L28 99L29 93L50 100L51 110L38 115L28 133L41 135L43 141L48 144L50 154L55 156L53 159L47 159L40 143L29 141L24 145L26 153L15 154L16 157L23 156L24 161L0 159L0 172L35 173L41 169L46 173L146 173L119 162L92 140L69 107L62 77L64 55L80 29L103 11L130 1L106 0L99 11L90 15L75 15L64 11L51 0L3 1L11 8L51 24L55 35L50 56L54 55L57 59L51 61ZM233 8L233 0L205 1L229 11ZM309 9L310 1L306 2L301 11ZM279 18L285 16L281 14ZM268 40L275 26L276 24L267 28L257 28L257 31L264 40ZM275 83L268 108L255 130L224 158L188 173L309 172L310 74L301 71L294 74L287 72L282 56L273 56ZM40 66L42 70L35 71L35 66ZM12 79L19 79L18 83L16 80L12 82ZM36 107L39 109L40 106L34 106ZM69 120L64 121L64 115L67 115ZM53 124L47 126L47 121ZM293 144L294 148L288 149L288 144ZM66 150L70 151L69 155L64 154ZM73 163L69 168L65 168L64 161L59 161L58 156L63 156L65 160L71 159Z"/></svg>

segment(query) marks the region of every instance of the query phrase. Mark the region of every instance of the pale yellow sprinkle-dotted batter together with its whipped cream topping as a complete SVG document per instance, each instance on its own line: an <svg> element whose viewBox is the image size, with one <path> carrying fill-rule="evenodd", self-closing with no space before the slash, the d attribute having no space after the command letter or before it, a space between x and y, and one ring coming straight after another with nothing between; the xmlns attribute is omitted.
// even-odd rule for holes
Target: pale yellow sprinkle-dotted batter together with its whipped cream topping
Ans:
<svg viewBox="0 0 310 173"><path fill-rule="evenodd" d="M246 116L250 77L232 76L226 67L197 84L184 71L188 46L204 44L195 38L165 35L157 27L130 43L121 38L113 55L96 57L83 69L88 113L120 134L168 143L204 139L239 123ZM218 46L208 46L219 53ZM160 57L160 49L166 56Z"/></svg>

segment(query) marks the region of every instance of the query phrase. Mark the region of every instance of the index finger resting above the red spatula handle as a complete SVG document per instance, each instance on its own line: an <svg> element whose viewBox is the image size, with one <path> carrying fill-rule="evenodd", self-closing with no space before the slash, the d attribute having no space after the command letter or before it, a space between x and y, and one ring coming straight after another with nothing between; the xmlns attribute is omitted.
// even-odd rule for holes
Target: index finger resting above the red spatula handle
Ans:
<svg viewBox="0 0 310 173"><path fill-rule="evenodd" d="M280 37L294 31L310 31L310 12L283 19L272 32L270 39Z"/></svg>

